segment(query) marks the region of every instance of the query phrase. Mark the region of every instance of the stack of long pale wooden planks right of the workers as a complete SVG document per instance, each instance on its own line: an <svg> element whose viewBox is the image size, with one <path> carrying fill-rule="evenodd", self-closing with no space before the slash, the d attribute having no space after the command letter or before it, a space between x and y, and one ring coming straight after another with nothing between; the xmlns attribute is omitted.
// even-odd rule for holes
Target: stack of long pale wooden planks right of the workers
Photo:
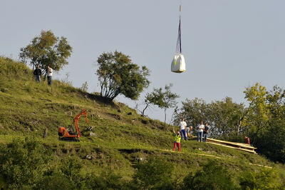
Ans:
<svg viewBox="0 0 285 190"><path fill-rule="evenodd" d="M211 138L207 138L207 143L216 144L219 146L226 146L228 148L238 149L241 151L247 151L252 154L257 154L257 152L255 151L255 149L257 148L255 148L254 146L250 146L250 144L235 143L235 142L222 141L222 140L211 139Z"/></svg>

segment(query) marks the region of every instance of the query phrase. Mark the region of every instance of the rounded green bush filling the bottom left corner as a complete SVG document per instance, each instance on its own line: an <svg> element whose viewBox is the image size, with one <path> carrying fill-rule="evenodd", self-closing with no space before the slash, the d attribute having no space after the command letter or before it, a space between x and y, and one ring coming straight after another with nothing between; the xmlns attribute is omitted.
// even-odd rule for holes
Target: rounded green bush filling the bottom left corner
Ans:
<svg viewBox="0 0 285 190"><path fill-rule="evenodd" d="M48 168L51 152L38 141L14 140L0 148L0 171L9 188L33 186Z"/></svg>

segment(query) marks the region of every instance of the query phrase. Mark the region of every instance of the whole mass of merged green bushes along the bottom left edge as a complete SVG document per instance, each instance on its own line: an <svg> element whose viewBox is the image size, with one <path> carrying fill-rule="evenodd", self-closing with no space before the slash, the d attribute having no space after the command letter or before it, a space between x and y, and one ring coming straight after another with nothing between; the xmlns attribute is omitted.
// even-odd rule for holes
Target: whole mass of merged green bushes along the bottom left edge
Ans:
<svg viewBox="0 0 285 190"><path fill-rule="evenodd" d="M51 151L31 139L0 146L0 189L123 189L121 176L84 174L83 162L66 157L51 166Z"/></svg>

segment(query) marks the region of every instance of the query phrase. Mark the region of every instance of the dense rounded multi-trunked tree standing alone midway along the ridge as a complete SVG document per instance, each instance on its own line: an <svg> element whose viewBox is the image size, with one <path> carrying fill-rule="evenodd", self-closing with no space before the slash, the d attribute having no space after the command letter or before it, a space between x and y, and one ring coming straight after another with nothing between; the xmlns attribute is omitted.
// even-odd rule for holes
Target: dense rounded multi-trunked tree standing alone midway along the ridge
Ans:
<svg viewBox="0 0 285 190"><path fill-rule="evenodd" d="M98 81L100 96L113 101L119 94L130 99L138 99L150 81L150 71L146 66L133 64L130 56L122 52L108 52L98 56Z"/></svg>

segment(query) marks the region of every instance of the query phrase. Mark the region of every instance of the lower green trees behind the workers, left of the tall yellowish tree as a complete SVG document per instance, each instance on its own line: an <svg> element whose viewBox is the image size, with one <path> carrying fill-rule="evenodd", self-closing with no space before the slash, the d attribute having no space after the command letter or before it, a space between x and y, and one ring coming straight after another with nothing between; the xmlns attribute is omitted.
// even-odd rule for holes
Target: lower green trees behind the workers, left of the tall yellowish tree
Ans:
<svg viewBox="0 0 285 190"><path fill-rule="evenodd" d="M235 103L229 97L209 104L203 99L186 99L182 101L180 111L175 114L175 122L180 121L182 117L192 126L197 126L200 121L207 121L212 137L229 139L231 136L237 136L243 112L244 105Z"/></svg>

